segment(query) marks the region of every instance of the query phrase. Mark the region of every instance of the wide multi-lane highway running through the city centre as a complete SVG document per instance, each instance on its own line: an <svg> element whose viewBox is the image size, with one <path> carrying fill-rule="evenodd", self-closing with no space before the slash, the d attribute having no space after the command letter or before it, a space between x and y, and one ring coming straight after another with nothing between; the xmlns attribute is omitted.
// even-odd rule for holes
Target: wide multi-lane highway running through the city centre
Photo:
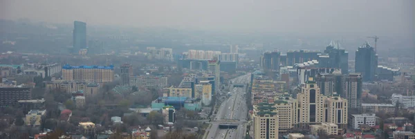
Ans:
<svg viewBox="0 0 415 139"><path fill-rule="evenodd" d="M232 84L246 85L250 82L250 74L242 75L231 80ZM248 115L248 106L246 106L246 86L244 87L230 87L230 97L224 100L219 106L216 117L211 122L212 126L209 129L208 138L212 139L241 139L245 136L246 119ZM227 95L227 94L226 94ZM237 120L238 129L219 129L219 124L231 123L228 121ZM223 121L223 122L221 122ZM241 124L243 123L243 124Z"/></svg>

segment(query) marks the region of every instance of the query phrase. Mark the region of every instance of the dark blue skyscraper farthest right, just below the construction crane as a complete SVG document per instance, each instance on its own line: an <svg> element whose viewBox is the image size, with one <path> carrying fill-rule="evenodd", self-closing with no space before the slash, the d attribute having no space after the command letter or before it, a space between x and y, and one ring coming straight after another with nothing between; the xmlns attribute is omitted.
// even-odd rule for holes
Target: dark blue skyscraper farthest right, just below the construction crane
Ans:
<svg viewBox="0 0 415 139"><path fill-rule="evenodd" d="M368 42L356 50L355 72L362 73L363 82L376 80L376 68L378 68L378 55Z"/></svg>

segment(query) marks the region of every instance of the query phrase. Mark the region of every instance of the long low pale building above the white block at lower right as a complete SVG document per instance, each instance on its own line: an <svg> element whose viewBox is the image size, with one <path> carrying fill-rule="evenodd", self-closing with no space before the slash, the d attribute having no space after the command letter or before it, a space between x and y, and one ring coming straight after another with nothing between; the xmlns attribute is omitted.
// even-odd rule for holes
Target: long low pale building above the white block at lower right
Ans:
<svg viewBox="0 0 415 139"><path fill-rule="evenodd" d="M369 103L362 103L362 112L363 113L395 113L395 105L394 104L369 104Z"/></svg>

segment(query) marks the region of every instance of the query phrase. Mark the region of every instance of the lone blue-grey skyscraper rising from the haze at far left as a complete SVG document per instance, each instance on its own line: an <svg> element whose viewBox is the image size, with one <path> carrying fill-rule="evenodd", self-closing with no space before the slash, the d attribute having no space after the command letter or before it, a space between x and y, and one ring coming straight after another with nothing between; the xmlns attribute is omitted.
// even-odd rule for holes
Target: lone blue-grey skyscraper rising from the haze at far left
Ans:
<svg viewBox="0 0 415 139"><path fill-rule="evenodd" d="M86 23L82 21L73 22L73 53L79 53L80 49L86 48Z"/></svg>

